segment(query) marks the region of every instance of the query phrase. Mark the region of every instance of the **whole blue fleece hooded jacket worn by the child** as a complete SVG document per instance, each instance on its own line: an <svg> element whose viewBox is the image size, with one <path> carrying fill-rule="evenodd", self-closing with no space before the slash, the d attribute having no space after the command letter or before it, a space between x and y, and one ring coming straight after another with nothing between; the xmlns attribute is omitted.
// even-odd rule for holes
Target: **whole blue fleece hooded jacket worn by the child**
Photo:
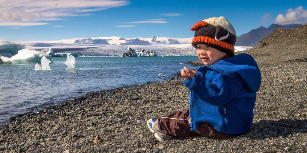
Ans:
<svg viewBox="0 0 307 153"><path fill-rule="evenodd" d="M261 74L254 58L238 54L210 66L201 66L197 74L185 80L191 90L191 131L207 122L227 134L241 134L251 129L256 91Z"/></svg>

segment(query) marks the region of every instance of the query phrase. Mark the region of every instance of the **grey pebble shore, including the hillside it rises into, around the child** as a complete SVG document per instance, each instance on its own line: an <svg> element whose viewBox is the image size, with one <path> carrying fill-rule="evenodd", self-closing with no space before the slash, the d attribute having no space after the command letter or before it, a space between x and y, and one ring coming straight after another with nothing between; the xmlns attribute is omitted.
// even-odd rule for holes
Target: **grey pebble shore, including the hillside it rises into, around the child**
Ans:
<svg viewBox="0 0 307 153"><path fill-rule="evenodd" d="M12 117L0 126L0 153L307 152L306 42L307 24L277 28L258 46L236 52L253 56L262 74L252 129L243 136L157 141L146 121L189 106L190 91L177 76L92 92Z"/></svg>

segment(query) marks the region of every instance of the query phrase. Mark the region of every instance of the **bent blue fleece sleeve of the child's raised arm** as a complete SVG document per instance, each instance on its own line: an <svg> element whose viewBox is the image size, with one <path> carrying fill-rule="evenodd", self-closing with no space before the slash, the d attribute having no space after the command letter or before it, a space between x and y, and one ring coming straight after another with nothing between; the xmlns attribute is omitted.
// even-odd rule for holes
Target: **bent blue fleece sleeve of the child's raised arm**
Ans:
<svg viewBox="0 0 307 153"><path fill-rule="evenodd" d="M209 72L209 76L214 77L206 77L197 72L195 76L185 80L185 86L198 98L215 106L225 105L235 97L240 82L237 80L238 76L229 78L216 71Z"/></svg>

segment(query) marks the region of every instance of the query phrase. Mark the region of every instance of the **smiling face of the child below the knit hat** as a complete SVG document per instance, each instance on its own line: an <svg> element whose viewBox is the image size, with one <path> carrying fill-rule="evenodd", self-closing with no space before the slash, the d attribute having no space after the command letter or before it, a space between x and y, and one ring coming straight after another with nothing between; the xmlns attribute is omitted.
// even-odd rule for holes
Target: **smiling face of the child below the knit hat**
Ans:
<svg viewBox="0 0 307 153"><path fill-rule="evenodd" d="M197 56L204 65L212 65L226 55L226 53L202 43L196 44L196 47Z"/></svg>

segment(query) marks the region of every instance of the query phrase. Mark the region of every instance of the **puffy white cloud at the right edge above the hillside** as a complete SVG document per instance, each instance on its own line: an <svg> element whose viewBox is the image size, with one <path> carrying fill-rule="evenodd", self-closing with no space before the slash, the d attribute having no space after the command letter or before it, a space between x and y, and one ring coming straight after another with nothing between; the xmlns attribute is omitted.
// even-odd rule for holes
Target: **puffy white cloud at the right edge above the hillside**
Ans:
<svg viewBox="0 0 307 153"><path fill-rule="evenodd" d="M275 19L277 24L285 25L285 24L305 24L307 17L307 10L304 10L302 6L298 6L296 9L288 9L286 16L283 14L278 14Z"/></svg>

